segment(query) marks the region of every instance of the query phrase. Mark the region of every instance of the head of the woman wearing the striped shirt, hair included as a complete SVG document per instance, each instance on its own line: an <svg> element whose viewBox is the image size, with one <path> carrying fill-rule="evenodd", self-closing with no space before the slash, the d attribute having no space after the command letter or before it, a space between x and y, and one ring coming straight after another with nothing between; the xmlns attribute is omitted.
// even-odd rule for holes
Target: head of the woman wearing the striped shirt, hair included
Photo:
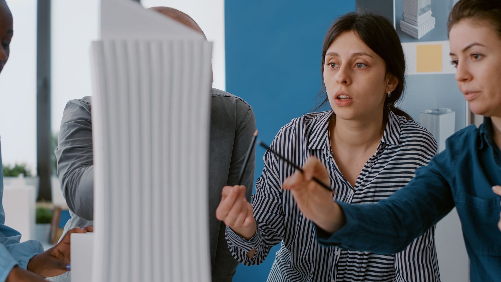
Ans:
<svg viewBox="0 0 501 282"><path fill-rule="evenodd" d="M395 103L404 90L405 57L393 25L372 13L348 13L329 29L322 48L323 87L336 118L411 117ZM324 89L322 89L324 90ZM389 94L388 94L389 93Z"/></svg>

